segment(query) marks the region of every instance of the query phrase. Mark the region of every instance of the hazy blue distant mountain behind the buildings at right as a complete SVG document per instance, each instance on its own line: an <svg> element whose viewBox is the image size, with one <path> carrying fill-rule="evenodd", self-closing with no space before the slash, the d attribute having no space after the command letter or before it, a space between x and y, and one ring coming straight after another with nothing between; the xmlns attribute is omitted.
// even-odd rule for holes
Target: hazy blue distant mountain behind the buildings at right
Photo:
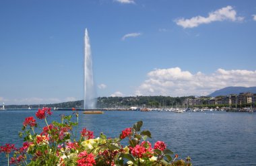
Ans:
<svg viewBox="0 0 256 166"><path fill-rule="evenodd" d="M216 97L218 95L230 95L230 94L239 94L245 92L256 93L256 87L225 87L223 89L214 91L214 93L208 95L210 97Z"/></svg>

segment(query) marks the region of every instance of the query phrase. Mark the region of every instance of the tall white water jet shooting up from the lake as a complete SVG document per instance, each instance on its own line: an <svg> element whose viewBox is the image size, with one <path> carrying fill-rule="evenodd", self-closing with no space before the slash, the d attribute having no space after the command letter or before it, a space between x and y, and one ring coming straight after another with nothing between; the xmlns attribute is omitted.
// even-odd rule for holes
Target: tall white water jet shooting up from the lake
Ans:
<svg viewBox="0 0 256 166"><path fill-rule="evenodd" d="M84 36L84 109L93 109L96 106L96 92L92 72L92 52L88 31Z"/></svg>

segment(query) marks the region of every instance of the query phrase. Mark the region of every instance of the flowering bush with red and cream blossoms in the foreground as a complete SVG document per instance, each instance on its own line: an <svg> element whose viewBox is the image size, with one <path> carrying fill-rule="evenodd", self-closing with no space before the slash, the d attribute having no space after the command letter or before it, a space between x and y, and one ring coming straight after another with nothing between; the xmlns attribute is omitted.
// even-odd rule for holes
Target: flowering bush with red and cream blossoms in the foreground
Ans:
<svg viewBox="0 0 256 166"><path fill-rule="evenodd" d="M46 124L40 133L34 130L38 127L34 117L24 120L23 132L20 132L24 143L19 149L14 144L0 147L8 165L191 165L190 157L185 161L178 159L178 155L166 149L162 141L157 141L152 147L147 140L151 138L150 131L141 130L142 121L125 128L117 138L107 138L103 133L94 138L93 132L86 128L79 132L78 138L77 131L74 131L78 125L77 111L77 122L72 122L71 116L61 116L61 122L48 124L46 118L51 114L51 108L36 112L36 117ZM127 144L122 145L121 140L125 139ZM11 159L10 154L13 154Z"/></svg>

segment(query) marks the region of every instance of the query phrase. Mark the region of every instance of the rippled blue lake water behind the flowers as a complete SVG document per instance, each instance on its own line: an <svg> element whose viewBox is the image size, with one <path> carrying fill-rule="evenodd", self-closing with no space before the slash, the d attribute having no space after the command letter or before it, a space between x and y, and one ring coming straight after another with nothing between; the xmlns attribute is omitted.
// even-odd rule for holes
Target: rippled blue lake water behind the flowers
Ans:
<svg viewBox="0 0 256 166"><path fill-rule="evenodd" d="M22 144L18 132L24 119L35 116L36 111L0 111L0 145ZM53 111L50 119L60 121L60 114L72 113ZM117 137L121 130L139 120L143 120L143 130L152 132L152 139L149 139L152 144L156 140L166 142L168 149L179 157L185 159L189 155L193 165L256 165L256 113L79 112L79 128L86 127L94 131L95 136L104 132L108 137ZM0 165L4 163L1 154Z"/></svg>

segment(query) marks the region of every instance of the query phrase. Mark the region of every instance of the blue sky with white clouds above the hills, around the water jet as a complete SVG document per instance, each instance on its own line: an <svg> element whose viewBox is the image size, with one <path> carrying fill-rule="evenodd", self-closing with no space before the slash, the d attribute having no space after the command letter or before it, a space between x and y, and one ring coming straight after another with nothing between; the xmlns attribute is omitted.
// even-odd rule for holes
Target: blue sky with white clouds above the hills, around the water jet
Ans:
<svg viewBox="0 0 256 166"><path fill-rule="evenodd" d="M0 1L0 102L83 99L84 30L99 97L256 86L256 1Z"/></svg>

